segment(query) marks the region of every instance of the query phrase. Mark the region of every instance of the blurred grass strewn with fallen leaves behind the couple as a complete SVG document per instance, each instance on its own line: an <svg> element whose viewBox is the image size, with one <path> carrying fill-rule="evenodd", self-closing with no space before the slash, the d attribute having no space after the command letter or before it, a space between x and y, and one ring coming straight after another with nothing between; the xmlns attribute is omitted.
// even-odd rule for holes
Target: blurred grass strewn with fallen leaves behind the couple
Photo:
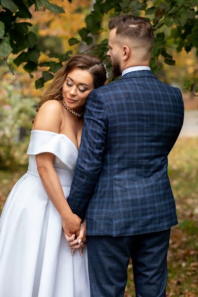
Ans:
<svg viewBox="0 0 198 297"><path fill-rule="evenodd" d="M26 170L0 171L0 210ZM167 297L198 296L198 138L179 139L169 155L169 177L179 225L172 228L168 252ZM135 297L130 262L125 297Z"/></svg>

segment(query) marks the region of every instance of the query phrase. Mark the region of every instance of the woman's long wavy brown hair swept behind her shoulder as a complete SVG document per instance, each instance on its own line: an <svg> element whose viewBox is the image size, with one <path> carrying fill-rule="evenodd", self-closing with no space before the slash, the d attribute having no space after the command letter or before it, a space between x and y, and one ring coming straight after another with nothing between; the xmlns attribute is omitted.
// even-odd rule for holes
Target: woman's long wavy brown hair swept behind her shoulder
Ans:
<svg viewBox="0 0 198 297"><path fill-rule="evenodd" d="M59 100L62 96L62 87L69 72L74 68L87 70L93 77L94 88L97 89L104 85L106 81L106 69L97 56L79 53L67 61L54 75L53 80L44 93L44 98L40 101L37 111L43 103L48 100Z"/></svg>

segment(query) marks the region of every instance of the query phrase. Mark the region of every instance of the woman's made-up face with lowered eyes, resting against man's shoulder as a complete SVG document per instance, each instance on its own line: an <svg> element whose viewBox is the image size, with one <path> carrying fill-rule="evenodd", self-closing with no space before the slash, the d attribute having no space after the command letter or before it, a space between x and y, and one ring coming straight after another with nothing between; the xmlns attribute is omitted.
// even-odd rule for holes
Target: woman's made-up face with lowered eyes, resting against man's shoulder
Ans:
<svg viewBox="0 0 198 297"><path fill-rule="evenodd" d="M63 99L67 106L81 112L88 95L94 89L92 75L87 70L75 68L68 73L62 87Z"/></svg>

